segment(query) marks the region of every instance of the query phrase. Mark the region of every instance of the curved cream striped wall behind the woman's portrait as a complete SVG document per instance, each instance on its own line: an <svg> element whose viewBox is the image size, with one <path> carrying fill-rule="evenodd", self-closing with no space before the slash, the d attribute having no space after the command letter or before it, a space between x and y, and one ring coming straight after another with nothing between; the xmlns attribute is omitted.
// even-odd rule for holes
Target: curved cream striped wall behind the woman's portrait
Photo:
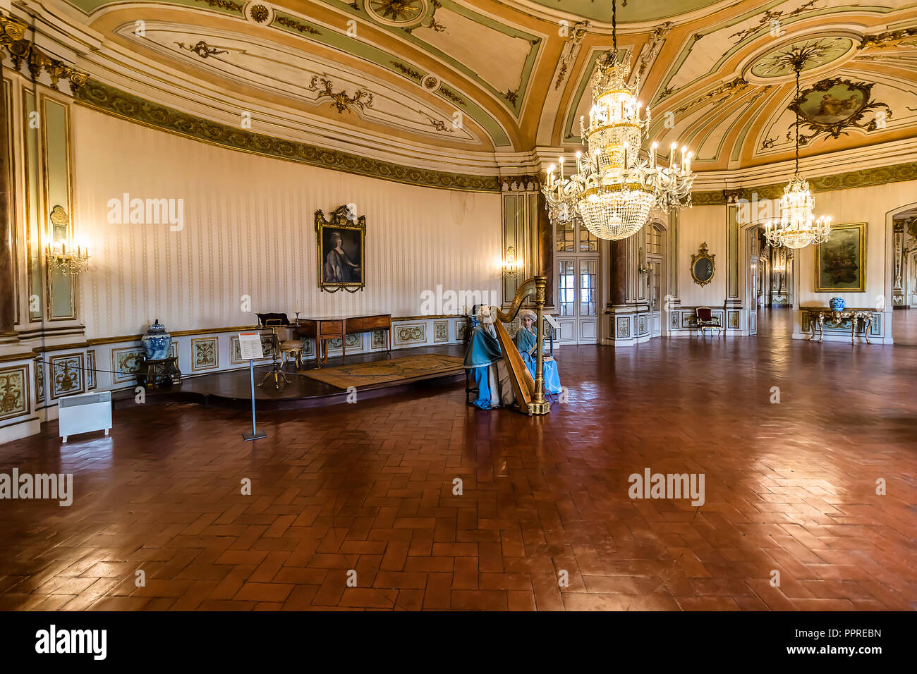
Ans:
<svg viewBox="0 0 917 674"><path fill-rule="evenodd" d="M107 116L73 115L73 222L93 246L86 337L243 326L251 311L420 314L421 293L500 287L497 193L435 190L260 157ZM184 200L184 227L111 225L108 200ZM321 293L314 214L366 215L366 289Z"/></svg>

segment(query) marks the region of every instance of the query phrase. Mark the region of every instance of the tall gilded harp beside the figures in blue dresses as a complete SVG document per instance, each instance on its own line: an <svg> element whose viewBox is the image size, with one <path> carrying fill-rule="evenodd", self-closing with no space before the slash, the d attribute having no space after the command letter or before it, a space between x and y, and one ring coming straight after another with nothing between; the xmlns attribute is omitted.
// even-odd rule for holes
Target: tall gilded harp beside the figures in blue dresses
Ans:
<svg viewBox="0 0 917 674"><path fill-rule="evenodd" d="M491 307L491 311L497 316L493 323L493 329L497 334L497 341L500 342L500 348L503 350L503 360L506 363L506 370L509 372L510 383L513 386L513 392L516 397L516 404L519 411L525 414L547 414L551 411L551 403L545 398L545 287L547 286L547 276L533 276L531 279L523 282L516 290L513 298L513 304L505 313L500 311L497 306ZM536 369L535 379L532 379L531 372L525 367L525 361L519 354L513 340L510 339L509 333L503 323L511 322L519 313L523 300L529 294L535 292L535 307L537 315L537 336L536 336Z"/></svg>

